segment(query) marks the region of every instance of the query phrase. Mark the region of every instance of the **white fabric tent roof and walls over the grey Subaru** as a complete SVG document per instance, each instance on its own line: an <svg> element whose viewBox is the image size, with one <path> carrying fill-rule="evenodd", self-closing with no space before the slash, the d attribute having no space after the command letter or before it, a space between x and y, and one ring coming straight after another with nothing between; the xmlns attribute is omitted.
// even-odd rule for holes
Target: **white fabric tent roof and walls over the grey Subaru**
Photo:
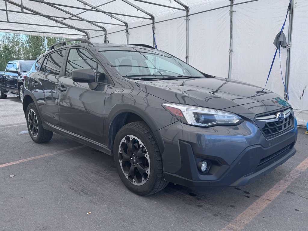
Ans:
<svg viewBox="0 0 308 231"><path fill-rule="evenodd" d="M264 86L276 51L273 41L285 20L289 1L0 0L0 31L85 37L91 42L156 44L157 49L205 73ZM305 125L308 2L296 0L293 8L290 78L286 87L298 124ZM288 26L289 16L284 30L287 39ZM281 50L284 80L287 49ZM286 97L278 56L266 88Z"/></svg>

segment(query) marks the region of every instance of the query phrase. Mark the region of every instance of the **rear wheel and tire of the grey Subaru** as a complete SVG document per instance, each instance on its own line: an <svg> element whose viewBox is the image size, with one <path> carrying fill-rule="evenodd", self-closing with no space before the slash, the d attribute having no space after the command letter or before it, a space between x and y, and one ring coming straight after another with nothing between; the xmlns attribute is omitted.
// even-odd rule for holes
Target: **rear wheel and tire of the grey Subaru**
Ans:
<svg viewBox="0 0 308 231"><path fill-rule="evenodd" d="M34 103L30 103L27 107L26 120L30 137L35 143L51 140L53 132L43 128L42 119Z"/></svg>

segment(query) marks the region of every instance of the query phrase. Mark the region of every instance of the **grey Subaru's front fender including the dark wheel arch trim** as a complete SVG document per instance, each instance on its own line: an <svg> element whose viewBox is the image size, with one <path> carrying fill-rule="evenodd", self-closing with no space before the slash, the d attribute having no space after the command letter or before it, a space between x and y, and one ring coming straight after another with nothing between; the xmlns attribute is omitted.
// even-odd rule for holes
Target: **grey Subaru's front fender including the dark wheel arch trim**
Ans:
<svg viewBox="0 0 308 231"><path fill-rule="evenodd" d="M107 88L105 98L106 126L104 135L108 144L111 123L121 113L132 112L139 115L154 133L177 121L161 106L166 101L141 91L134 80L121 79L120 77L114 77L113 80L115 86ZM159 134L156 135L156 139L159 143L162 142Z"/></svg>

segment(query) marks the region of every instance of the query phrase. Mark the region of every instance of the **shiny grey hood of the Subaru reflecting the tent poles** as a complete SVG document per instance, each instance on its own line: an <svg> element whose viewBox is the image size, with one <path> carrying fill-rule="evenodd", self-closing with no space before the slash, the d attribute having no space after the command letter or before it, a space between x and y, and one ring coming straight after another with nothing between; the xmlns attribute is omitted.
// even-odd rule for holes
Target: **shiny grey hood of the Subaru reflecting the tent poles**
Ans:
<svg viewBox="0 0 308 231"><path fill-rule="evenodd" d="M171 103L224 109L280 97L269 90L231 79L136 80L142 91ZM263 91L262 91L263 90Z"/></svg>

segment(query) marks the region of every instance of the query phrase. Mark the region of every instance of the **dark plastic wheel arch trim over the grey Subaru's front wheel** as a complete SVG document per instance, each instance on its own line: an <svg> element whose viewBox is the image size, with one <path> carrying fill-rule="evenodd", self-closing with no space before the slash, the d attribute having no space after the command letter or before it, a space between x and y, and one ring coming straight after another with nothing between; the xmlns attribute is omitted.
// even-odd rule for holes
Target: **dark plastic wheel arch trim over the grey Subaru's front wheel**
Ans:
<svg viewBox="0 0 308 231"><path fill-rule="evenodd" d="M146 124L148 124L149 128L152 130L157 143L158 143L158 148L160 150L160 152L162 153L164 151L165 145L164 145L164 140L163 137L161 136L160 132L159 132L159 128L156 126L156 123L154 122L154 120L151 118L151 116L145 112L143 109L141 109L140 107L137 107L134 104L130 104L130 103L117 103L115 104L107 117L106 120L106 126L105 126L105 134L107 135L108 141L106 142L106 144L110 144L110 140L109 140L109 134L110 134L110 129L111 129L111 124L112 121L115 119L116 116L120 115L121 113L125 113L125 112L131 112L134 113L138 116L140 116L140 118L142 118L144 120L144 122ZM112 149L112 147L110 147Z"/></svg>

